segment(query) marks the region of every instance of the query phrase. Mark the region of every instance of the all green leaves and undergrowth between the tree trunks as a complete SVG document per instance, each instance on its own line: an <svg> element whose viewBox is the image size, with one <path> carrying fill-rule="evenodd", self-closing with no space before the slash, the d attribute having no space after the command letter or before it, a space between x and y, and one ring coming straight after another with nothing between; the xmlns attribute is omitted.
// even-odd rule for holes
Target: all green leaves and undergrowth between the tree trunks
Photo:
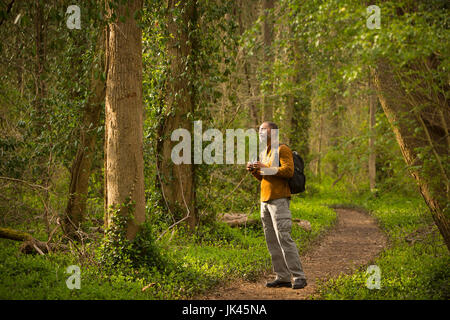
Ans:
<svg viewBox="0 0 450 320"><path fill-rule="evenodd" d="M85 1L82 32L69 30L64 16L69 2L41 3L46 23L46 59L41 79L46 92L40 111L36 107L33 15L24 15L13 24L12 16L0 10L0 18L6 18L0 29L0 176L25 180L25 184L17 185L2 181L0 211L4 213L2 223L25 228L38 239L47 240L42 222L43 198L48 197L45 204L50 213L64 211L70 178L67 169L79 145L81 117L91 94L90 74L101 59L96 39L106 21L100 2ZM324 284L322 297L448 299L448 252L436 228L430 227L432 222L423 201L411 196L416 192L415 185L380 108L375 127L380 198L366 192L370 133L364 102L369 93L369 70L380 60L393 67L407 98L413 94L448 98L447 2L383 1L381 29L370 30L365 26L367 13L362 2L281 0L271 13L278 14L274 17L277 36L271 48L262 46L263 17L240 21L247 17L245 13L241 16L241 8L233 1L196 3L194 23L188 26L193 50L184 61L187 71L191 71L186 85L193 94L195 108L183 116L202 120L204 128L246 128L253 125L248 119L248 105L253 103L250 98L256 98L255 107L260 112L261 99L254 94L272 93L274 120L283 127L291 121L286 118L286 106L293 101L290 145L302 153L307 163L320 156L322 172L318 183L310 167L306 167L307 191L295 196L291 204L293 217L312 225L310 232L293 225L293 238L300 251L304 252L333 226L336 214L327 205L356 203L369 209L390 237L390 247L375 262L382 269L382 290L365 287L362 268L354 275ZM116 7L118 1L108 1L108 5ZM32 3L16 2L14 6L20 12L34 12ZM180 24L178 30L186 27L181 11L177 5L172 12ZM87 244L95 257L91 262L71 253L25 256L17 252L17 243L0 240L0 298L176 299L233 278L255 280L270 269L260 225L230 228L216 221L217 215L225 212L245 212L259 218L256 182L243 166L196 165L200 225L193 233L182 225L168 230L181 218L181 213L171 216L166 212L157 187L158 139L169 138L160 137L159 129L166 117L176 112L167 110L165 104L168 95L177 94L167 91L172 80L167 43L174 36L167 30L168 16L164 3L156 0L145 1L142 17L136 16L143 29L147 222L129 241L125 235L131 204L117 210L100 246L95 241ZM273 62L260 62L264 51L274 56ZM432 65L426 65L426 61ZM249 71L242 75L241 69L246 66ZM26 74L30 72L34 72L33 76ZM105 74L98 71L96 77L104 78ZM427 106L428 102L424 102L412 111ZM325 130L335 129L328 132L331 138L320 153L309 150L316 144L310 139L311 131L319 126L319 117L325 121ZM425 133L420 127L413 131L418 137ZM96 134L96 149L100 151L94 155L89 220L83 225L86 230L98 227L104 215L103 125ZM416 151L419 159L427 159L432 153L429 147ZM448 164L445 161L444 166ZM430 170L436 165L432 158L421 169ZM343 178L338 180L341 174ZM442 183L440 179L436 175L433 182ZM29 189L26 181L49 186L51 193ZM121 214L121 210L127 214ZM156 235L166 230L157 240ZM59 237L55 234L54 239ZM68 275L64 271L70 264L82 266L81 290L65 286Z"/></svg>

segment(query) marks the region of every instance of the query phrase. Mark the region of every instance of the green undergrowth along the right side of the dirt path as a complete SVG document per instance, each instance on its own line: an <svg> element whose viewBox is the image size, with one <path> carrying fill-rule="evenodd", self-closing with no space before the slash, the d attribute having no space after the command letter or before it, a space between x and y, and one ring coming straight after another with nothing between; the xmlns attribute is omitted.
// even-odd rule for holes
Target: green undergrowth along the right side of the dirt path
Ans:
<svg viewBox="0 0 450 320"><path fill-rule="evenodd" d="M367 209L389 238L388 248L369 263L380 268L380 288L367 287L375 274L371 277L362 266L354 274L322 283L319 299L450 298L449 252L422 198L366 194L352 203Z"/></svg>

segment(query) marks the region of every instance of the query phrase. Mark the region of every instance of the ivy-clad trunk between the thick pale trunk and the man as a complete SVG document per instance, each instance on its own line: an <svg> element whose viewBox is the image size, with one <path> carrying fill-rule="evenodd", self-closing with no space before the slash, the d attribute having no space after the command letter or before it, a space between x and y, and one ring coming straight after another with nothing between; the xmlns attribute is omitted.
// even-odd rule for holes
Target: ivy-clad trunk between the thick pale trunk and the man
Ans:
<svg viewBox="0 0 450 320"><path fill-rule="evenodd" d="M193 164L179 164L172 162L171 153L175 145L170 137L178 128L187 129L192 133L192 121L188 114L194 111L193 88L193 46L192 26L196 22L196 3L192 0L182 0L178 9L182 10L181 21L175 20L173 10L177 1L169 0L168 30L173 37L168 40L168 54L170 58L169 77L166 86L166 110L160 123L158 138L158 171L161 189L168 210L177 218L180 213L187 216L186 221L191 230L197 224L195 212L195 186ZM180 22L177 22L180 21ZM180 25L181 23L181 25Z"/></svg>

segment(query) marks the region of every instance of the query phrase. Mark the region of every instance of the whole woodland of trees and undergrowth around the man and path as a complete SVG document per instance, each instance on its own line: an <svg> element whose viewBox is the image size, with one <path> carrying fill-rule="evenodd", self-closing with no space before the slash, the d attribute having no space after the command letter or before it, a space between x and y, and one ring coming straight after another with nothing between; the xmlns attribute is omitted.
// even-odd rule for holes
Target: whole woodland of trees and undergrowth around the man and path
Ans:
<svg viewBox="0 0 450 320"><path fill-rule="evenodd" d="M185 298L257 278L260 226L220 222L258 217L256 181L174 166L170 134L272 120L307 164L300 250L332 227L324 204L365 207L391 239L384 290L361 271L321 298L448 299L447 1L2 0L0 39L0 297Z"/></svg>

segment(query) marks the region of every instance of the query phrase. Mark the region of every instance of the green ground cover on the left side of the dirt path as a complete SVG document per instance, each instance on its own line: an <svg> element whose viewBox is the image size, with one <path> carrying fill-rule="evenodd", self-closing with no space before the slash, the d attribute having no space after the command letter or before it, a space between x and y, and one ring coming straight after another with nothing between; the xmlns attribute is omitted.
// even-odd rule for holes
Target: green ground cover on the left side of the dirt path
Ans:
<svg viewBox="0 0 450 320"><path fill-rule="evenodd" d="M311 222L310 232L293 225L292 236L302 252L336 219L335 212L320 201L295 198L291 211L293 217ZM259 217L259 212L252 215ZM19 243L0 239L0 299L184 299L232 279L256 280L271 269L261 225L230 228L215 223L201 226L193 235L177 228L158 247L165 265L123 268L111 274L80 264L68 253L24 255L18 251ZM69 290L65 283L70 276L65 270L72 264L81 267L79 290Z"/></svg>

